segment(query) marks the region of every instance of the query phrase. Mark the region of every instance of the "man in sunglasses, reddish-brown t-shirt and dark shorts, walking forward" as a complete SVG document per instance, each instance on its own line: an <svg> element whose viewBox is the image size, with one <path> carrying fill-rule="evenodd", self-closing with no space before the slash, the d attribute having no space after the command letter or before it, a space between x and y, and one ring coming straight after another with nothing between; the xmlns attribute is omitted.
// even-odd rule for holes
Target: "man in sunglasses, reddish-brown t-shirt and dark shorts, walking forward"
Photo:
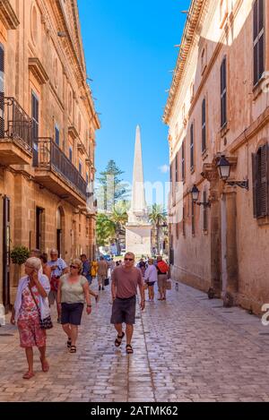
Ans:
<svg viewBox="0 0 269 420"><path fill-rule="evenodd" d="M141 309L144 309L144 289L141 270L134 267L134 253L126 253L125 264L118 266L112 272L111 293L113 299L111 323L117 330L115 346L121 345L125 332L122 330L123 322L126 323L126 353L134 353L131 340L134 332L135 305L137 287L140 290Z"/></svg>

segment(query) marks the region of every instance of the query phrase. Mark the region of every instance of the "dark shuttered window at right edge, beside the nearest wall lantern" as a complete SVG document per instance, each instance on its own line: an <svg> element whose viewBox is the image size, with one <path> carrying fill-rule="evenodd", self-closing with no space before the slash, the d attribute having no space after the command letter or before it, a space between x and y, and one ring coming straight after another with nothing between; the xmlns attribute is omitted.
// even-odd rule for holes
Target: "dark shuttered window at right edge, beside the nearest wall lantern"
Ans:
<svg viewBox="0 0 269 420"><path fill-rule="evenodd" d="M253 213L256 219L269 216L269 149L261 146L252 155Z"/></svg>

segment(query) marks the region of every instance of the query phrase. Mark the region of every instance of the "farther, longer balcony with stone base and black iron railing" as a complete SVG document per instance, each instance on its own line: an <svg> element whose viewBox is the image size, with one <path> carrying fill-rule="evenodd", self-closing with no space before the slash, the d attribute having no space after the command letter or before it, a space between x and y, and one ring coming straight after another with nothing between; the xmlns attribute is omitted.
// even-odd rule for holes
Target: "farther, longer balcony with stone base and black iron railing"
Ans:
<svg viewBox="0 0 269 420"><path fill-rule="evenodd" d="M34 150L35 180L76 206L86 202L86 181L65 153L50 138L39 138Z"/></svg>

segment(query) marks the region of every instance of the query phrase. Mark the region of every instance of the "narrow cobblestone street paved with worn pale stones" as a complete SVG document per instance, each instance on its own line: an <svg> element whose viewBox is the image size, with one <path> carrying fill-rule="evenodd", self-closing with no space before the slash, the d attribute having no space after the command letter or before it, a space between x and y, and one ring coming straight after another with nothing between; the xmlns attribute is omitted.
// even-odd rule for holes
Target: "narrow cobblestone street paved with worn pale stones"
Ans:
<svg viewBox="0 0 269 420"><path fill-rule="evenodd" d="M61 326L48 332L49 373L26 368L16 330L0 329L0 401L269 401L269 330L239 308L179 285L136 313L134 355L114 347L107 290L83 316L78 352ZM55 313L54 313L55 315ZM54 316L55 317L55 316ZM5 335L6 334L6 335Z"/></svg>

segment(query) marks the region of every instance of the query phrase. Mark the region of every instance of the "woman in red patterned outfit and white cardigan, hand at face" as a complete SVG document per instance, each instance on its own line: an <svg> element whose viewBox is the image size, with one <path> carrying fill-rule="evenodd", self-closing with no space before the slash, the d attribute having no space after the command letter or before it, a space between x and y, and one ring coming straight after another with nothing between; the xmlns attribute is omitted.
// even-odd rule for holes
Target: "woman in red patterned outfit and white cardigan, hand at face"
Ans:
<svg viewBox="0 0 269 420"><path fill-rule="evenodd" d="M30 379L33 372L33 349L37 346L40 353L42 371L48 372L46 358L46 330L44 321L51 322L48 306L50 285L48 277L39 273L41 262L39 258L29 258L25 262L25 274L19 281L17 296L13 306L11 323L17 322L20 333L21 347L25 348L28 371L23 379ZM43 327L43 328L41 328ZM49 328L52 324L49 325Z"/></svg>

